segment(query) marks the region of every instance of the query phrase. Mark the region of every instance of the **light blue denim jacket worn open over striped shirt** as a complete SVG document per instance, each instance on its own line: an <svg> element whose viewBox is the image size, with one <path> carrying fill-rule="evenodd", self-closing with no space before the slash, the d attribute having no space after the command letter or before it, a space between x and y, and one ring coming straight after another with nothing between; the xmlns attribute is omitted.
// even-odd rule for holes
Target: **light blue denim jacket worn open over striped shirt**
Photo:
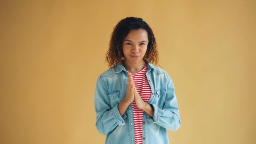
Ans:
<svg viewBox="0 0 256 144"><path fill-rule="evenodd" d="M173 82L167 72L149 62L146 75L152 91L148 103L154 116L143 114L143 144L169 144L166 129L176 131L181 125ZM125 97L127 76L120 62L103 72L96 83L96 128L107 135L106 144L134 144L132 104L123 116L117 107Z"/></svg>

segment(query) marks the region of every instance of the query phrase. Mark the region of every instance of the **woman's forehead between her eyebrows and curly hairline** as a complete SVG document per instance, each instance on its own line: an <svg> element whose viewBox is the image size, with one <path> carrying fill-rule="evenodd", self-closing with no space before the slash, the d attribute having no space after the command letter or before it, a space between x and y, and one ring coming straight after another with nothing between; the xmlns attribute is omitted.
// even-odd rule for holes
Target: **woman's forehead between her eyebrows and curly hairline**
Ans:
<svg viewBox="0 0 256 144"><path fill-rule="evenodd" d="M128 35L125 37L125 39L131 40L131 41L143 41L148 40L147 31L145 29L132 29Z"/></svg>

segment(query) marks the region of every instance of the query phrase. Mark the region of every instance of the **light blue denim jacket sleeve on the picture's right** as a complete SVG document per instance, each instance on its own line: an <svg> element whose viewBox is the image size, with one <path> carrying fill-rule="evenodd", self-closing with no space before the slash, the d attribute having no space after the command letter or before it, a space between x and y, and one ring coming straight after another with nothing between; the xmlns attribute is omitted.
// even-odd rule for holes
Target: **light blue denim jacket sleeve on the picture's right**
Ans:
<svg viewBox="0 0 256 144"><path fill-rule="evenodd" d="M165 102L163 109L160 109L155 104L151 104L154 108L153 118L149 115L149 120L156 123L163 128L171 131L177 131L181 125L179 108L177 104L177 99L175 95L175 89L171 77L167 75L167 92L165 97Z"/></svg>

